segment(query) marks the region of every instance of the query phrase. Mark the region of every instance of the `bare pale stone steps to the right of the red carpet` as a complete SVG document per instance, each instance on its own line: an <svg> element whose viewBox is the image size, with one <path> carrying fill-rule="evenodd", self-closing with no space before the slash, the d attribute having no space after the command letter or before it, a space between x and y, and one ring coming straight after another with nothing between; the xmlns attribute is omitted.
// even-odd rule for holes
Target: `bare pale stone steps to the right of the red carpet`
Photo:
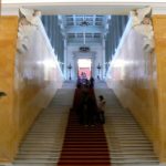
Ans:
<svg viewBox="0 0 166 166"><path fill-rule="evenodd" d="M144 135L132 114L124 108L114 92L105 82L95 86L96 96L102 94L106 100L104 125L110 147L112 166L158 166L152 144Z"/></svg>

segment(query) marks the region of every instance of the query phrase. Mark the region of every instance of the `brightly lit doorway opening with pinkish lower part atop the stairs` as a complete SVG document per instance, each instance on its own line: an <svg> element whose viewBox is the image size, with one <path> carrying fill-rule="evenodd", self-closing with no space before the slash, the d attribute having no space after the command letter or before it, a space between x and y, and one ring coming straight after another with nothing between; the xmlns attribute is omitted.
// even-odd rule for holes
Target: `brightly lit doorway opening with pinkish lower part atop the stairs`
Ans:
<svg viewBox="0 0 166 166"><path fill-rule="evenodd" d="M92 66L91 59L79 59L77 60L79 76L90 79L92 75L91 66Z"/></svg>

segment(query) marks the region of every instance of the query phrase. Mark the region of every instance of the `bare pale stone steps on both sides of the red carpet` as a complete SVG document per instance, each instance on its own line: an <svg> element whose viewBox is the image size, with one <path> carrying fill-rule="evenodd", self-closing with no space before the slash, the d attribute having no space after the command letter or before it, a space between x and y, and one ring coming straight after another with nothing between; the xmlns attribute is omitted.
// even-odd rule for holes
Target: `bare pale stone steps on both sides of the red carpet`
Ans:
<svg viewBox="0 0 166 166"><path fill-rule="evenodd" d="M63 144L68 115L73 102L74 82L65 82L40 114L23 141L13 166L55 166ZM158 166L148 139L133 116L108 90L95 83L95 93L106 98L104 125L112 166Z"/></svg>

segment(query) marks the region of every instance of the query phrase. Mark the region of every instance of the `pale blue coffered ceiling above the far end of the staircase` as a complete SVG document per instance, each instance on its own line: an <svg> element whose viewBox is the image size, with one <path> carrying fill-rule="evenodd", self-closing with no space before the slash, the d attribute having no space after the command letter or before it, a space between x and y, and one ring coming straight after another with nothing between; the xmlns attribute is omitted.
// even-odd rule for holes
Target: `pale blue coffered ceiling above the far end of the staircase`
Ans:
<svg viewBox="0 0 166 166"><path fill-rule="evenodd" d="M61 15L59 18L68 43L102 43L111 15Z"/></svg>

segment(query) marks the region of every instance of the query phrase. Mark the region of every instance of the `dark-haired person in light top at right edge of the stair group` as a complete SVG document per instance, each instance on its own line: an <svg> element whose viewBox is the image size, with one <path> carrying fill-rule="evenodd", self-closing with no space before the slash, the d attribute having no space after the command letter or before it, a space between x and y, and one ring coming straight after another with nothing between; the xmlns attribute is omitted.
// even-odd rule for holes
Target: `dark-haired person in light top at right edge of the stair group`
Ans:
<svg viewBox="0 0 166 166"><path fill-rule="evenodd" d="M100 95L98 96L98 121L102 124L105 123L105 116L104 116L105 103L106 102L105 102L103 95Z"/></svg>

